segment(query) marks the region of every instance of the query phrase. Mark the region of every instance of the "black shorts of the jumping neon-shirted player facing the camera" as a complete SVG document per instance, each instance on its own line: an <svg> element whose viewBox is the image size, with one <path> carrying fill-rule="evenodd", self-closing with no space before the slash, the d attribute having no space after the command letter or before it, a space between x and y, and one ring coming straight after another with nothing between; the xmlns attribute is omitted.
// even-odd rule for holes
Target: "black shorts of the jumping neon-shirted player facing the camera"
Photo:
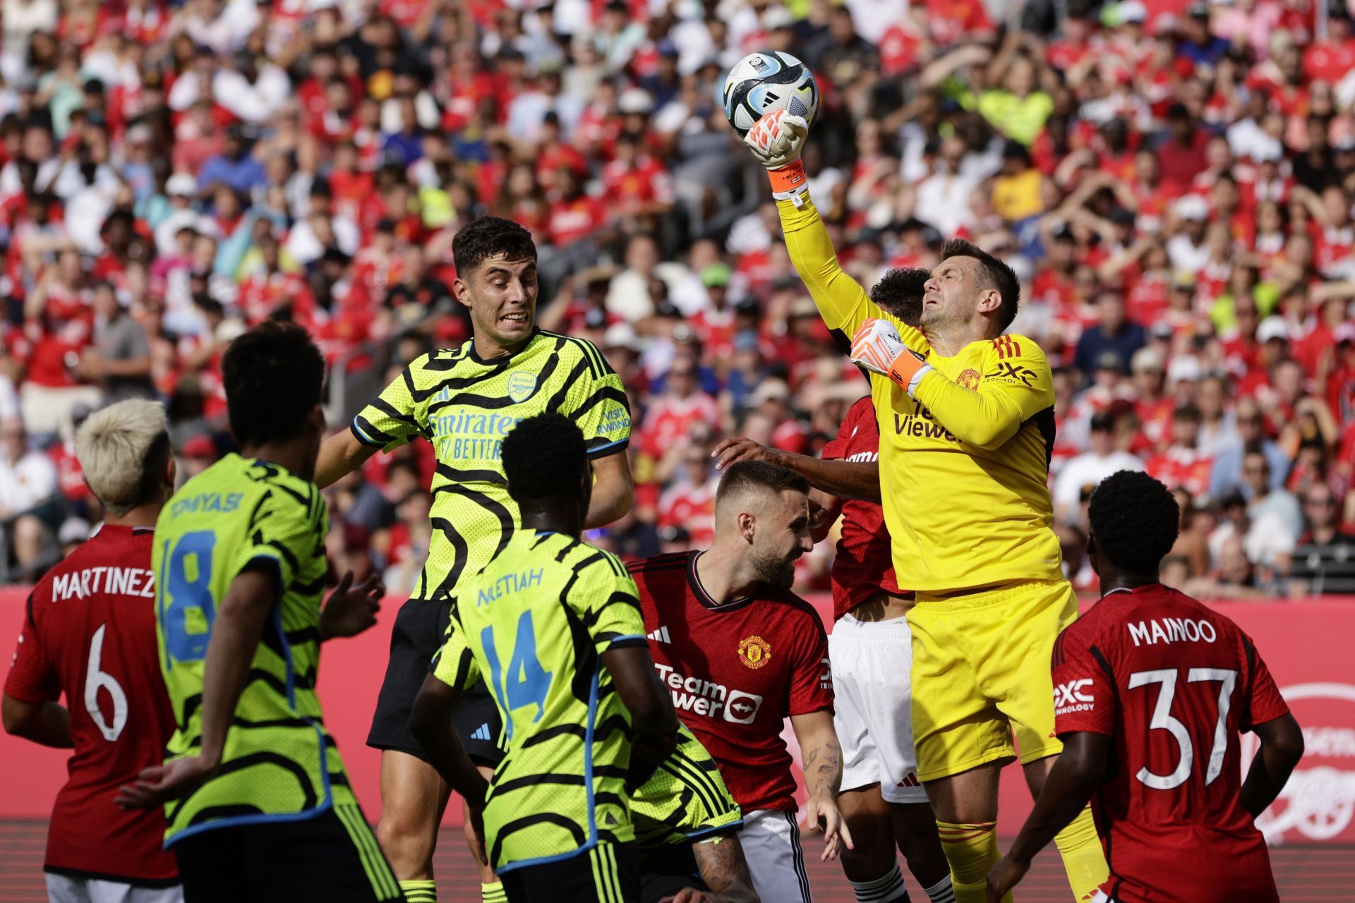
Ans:
<svg viewBox="0 0 1355 903"><path fill-rule="evenodd" d="M428 761L409 731L409 712L419 688L428 677L434 653L442 648L449 611L447 602L417 598L400 607L390 630L390 661L386 665L386 678L381 682L381 695L377 696L367 746L398 750ZM499 708L482 682L466 693L457 707L453 723L473 762L495 768L503 761L503 751L499 749Z"/></svg>

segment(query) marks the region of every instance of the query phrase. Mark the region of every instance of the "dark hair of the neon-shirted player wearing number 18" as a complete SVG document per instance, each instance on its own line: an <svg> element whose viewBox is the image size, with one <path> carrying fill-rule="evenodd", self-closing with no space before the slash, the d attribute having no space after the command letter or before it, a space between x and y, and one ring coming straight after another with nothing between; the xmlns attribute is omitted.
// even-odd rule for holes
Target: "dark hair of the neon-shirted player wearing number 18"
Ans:
<svg viewBox="0 0 1355 903"><path fill-rule="evenodd" d="M325 359L301 326L266 321L226 348L221 382L240 445L286 440L301 435L320 403Z"/></svg>

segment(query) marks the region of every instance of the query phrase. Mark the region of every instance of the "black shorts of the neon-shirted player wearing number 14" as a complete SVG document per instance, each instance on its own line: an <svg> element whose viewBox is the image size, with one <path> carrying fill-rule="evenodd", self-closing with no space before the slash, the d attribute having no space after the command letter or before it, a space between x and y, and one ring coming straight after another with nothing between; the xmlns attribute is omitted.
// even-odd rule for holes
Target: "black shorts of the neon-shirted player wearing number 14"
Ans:
<svg viewBox="0 0 1355 903"><path fill-rule="evenodd" d="M499 876L508 903L640 903L635 843L599 843L558 862L526 865Z"/></svg>

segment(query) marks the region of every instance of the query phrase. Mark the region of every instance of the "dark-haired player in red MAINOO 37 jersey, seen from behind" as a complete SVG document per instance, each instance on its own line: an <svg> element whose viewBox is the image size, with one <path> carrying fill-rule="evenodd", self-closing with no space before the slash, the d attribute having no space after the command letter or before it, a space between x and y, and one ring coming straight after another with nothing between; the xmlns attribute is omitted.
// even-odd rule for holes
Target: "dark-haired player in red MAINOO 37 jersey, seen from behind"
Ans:
<svg viewBox="0 0 1355 903"><path fill-rule="evenodd" d="M1276 903L1255 819L1302 758L1304 731L1251 638L1159 581L1180 523L1165 486L1112 474L1092 493L1088 521L1106 594L1054 644L1064 754L989 873L989 900L1091 799L1110 860L1095 900ZM1260 738L1245 781L1243 731Z"/></svg>

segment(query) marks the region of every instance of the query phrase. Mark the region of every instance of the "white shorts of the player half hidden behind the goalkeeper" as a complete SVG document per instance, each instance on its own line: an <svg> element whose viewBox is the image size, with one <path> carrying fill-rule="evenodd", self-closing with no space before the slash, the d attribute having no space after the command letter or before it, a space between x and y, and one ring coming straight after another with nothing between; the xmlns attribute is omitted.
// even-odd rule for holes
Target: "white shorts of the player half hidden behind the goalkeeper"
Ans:
<svg viewBox="0 0 1355 903"><path fill-rule="evenodd" d="M908 620L843 615L828 636L843 789L879 784L888 803L925 803L913 751L913 636Z"/></svg>

